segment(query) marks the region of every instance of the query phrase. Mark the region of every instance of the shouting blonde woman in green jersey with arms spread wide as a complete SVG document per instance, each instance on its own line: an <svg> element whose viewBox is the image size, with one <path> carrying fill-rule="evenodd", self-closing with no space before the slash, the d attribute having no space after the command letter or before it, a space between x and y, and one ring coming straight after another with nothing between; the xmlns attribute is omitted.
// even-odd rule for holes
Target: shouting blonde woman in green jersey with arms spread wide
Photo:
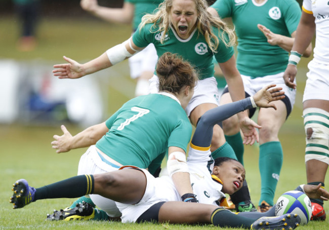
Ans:
<svg viewBox="0 0 329 230"><path fill-rule="evenodd" d="M156 13L147 14L133 36L107 50L101 56L85 64L64 57L68 64L55 65L54 75L60 79L75 79L108 68L125 60L149 44L153 44L157 55L165 52L177 53L189 61L199 73L194 95L185 111L193 125L201 115L219 104L219 94L214 78L215 56L230 88L233 100L244 98L240 73L235 66L232 45L235 44L233 30L218 17L207 12L205 0L166 0ZM151 79L151 92L157 92L156 73ZM238 114L246 143L258 140L256 128L246 112ZM225 141L219 125L214 127L211 151L216 157L236 158L233 149Z"/></svg>

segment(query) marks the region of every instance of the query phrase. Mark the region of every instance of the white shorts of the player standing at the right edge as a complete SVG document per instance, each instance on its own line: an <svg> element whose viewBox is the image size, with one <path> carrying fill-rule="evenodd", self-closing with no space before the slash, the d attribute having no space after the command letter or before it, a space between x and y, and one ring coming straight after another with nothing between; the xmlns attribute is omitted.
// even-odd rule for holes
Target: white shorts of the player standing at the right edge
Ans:
<svg viewBox="0 0 329 230"><path fill-rule="evenodd" d="M311 99L329 100L329 65L308 63L309 72L305 85L303 102Z"/></svg>

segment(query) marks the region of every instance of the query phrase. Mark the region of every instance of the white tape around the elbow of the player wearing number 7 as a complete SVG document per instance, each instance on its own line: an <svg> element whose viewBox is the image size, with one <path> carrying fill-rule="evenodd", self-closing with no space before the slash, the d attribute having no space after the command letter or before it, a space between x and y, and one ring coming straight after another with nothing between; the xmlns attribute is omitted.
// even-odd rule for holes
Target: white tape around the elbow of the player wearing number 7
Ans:
<svg viewBox="0 0 329 230"><path fill-rule="evenodd" d="M167 170L171 177L177 172L188 173L185 154L180 151L172 152L168 157Z"/></svg>

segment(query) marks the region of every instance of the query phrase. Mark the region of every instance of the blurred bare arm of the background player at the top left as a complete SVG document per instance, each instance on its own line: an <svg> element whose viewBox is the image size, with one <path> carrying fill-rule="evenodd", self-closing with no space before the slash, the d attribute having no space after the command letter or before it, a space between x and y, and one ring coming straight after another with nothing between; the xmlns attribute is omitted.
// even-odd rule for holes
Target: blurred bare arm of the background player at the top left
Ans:
<svg viewBox="0 0 329 230"><path fill-rule="evenodd" d="M81 0L80 6L85 11L111 23L130 24L135 11L135 6L127 2L122 8L109 8L99 6L97 0Z"/></svg>

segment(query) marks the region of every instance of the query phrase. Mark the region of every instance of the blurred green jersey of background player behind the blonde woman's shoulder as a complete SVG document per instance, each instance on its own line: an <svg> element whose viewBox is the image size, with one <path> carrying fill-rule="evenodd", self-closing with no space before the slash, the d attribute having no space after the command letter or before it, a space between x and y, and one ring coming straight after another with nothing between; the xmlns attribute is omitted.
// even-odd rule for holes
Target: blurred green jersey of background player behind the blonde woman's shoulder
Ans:
<svg viewBox="0 0 329 230"><path fill-rule="evenodd" d="M133 29L135 31L141 23L142 17L145 14L153 14L153 11L158 8L163 0L125 0L125 2L134 4Z"/></svg>

